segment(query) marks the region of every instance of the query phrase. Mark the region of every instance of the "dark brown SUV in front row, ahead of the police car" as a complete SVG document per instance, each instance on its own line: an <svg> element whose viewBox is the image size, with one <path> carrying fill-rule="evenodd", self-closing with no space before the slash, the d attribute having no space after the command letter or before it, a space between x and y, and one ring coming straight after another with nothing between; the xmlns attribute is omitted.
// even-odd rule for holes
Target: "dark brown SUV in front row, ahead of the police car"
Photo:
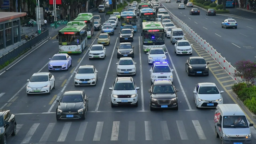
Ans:
<svg viewBox="0 0 256 144"><path fill-rule="evenodd" d="M156 108L175 108L178 110L176 89L170 80L156 80L148 92L150 95L150 110Z"/></svg>

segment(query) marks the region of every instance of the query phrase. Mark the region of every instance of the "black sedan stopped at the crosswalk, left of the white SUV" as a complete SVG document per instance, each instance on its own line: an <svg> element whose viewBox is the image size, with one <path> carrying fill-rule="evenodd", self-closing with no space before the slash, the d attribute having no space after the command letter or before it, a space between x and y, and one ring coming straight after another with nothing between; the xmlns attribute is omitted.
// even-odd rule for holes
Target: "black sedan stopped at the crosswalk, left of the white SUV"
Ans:
<svg viewBox="0 0 256 144"><path fill-rule="evenodd" d="M82 119L88 110L88 97L83 91L67 91L57 99L56 119Z"/></svg>

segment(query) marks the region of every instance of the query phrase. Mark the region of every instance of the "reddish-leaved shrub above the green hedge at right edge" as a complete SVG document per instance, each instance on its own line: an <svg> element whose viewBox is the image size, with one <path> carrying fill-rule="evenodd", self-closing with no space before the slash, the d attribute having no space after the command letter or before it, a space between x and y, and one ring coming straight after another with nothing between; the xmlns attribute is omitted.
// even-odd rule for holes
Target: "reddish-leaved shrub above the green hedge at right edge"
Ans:
<svg viewBox="0 0 256 144"><path fill-rule="evenodd" d="M256 62L241 60L235 63L236 70L234 76L243 77L247 87L252 87L256 80Z"/></svg>

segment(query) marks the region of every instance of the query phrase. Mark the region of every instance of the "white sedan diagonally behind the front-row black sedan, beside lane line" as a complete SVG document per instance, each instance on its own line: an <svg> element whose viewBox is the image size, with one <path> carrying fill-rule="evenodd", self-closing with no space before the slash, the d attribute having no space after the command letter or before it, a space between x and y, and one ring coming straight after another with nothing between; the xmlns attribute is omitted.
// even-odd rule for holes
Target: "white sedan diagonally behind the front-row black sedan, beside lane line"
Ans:
<svg viewBox="0 0 256 144"><path fill-rule="evenodd" d="M82 65L74 72L74 86L77 85L96 85L98 71L93 65Z"/></svg>

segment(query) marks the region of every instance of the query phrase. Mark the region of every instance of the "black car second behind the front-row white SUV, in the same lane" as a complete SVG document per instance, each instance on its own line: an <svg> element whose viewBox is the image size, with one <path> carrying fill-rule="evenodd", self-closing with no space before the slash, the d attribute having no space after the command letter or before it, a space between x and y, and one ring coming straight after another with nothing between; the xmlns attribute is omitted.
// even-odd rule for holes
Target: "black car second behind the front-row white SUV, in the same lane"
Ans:
<svg viewBox="0 0 256 144"><path fill-rule="evenodd" d="M117 58L132 57L134 58L134 46L131 43L120 43L117 47Z"/></svg>

